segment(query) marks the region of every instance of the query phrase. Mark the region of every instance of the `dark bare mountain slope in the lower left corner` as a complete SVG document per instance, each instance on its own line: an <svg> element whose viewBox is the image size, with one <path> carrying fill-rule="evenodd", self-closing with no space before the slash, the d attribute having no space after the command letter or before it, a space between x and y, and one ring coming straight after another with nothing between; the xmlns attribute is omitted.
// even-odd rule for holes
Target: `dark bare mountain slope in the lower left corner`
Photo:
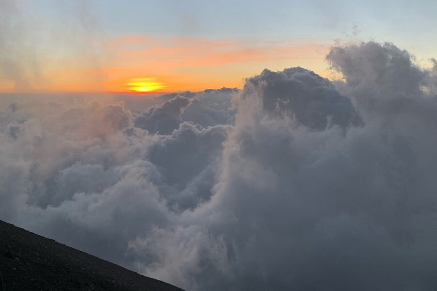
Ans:
<svg viewBox="0 0 437 291"><path fill-rule="evenodd" d="M182 291L1 220L0 272L4 291Z"/></svg>

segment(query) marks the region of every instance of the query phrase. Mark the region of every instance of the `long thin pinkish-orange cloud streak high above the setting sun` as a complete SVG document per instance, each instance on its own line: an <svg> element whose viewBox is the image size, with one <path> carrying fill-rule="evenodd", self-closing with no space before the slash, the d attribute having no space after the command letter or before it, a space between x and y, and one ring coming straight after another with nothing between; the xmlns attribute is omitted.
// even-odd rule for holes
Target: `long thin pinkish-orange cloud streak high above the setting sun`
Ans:
<svg viewBox="0 0 437 291"><path fill-rule="evenodd" d="M242 62L266 62L302 58L322 58L328 44L308 43L304 39L269 40L263 45L257 39L156 38L124 35L108 42L122 54L126 63L136 60L160 60L164 66L214 66ZM172 61L175 64L170 64Z"/></svg>

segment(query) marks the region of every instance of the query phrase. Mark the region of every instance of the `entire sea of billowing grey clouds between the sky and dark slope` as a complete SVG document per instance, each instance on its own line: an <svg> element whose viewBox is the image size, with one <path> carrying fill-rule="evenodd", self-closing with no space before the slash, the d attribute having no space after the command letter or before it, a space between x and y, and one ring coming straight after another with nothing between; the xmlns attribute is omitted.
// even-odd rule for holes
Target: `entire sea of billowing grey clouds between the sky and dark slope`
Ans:
<svg viewBox="0 0 437 291"><path fill-rule="evenodd" d="M0 219L186 290L437 289L437 65L0 102Z"/></svg>

